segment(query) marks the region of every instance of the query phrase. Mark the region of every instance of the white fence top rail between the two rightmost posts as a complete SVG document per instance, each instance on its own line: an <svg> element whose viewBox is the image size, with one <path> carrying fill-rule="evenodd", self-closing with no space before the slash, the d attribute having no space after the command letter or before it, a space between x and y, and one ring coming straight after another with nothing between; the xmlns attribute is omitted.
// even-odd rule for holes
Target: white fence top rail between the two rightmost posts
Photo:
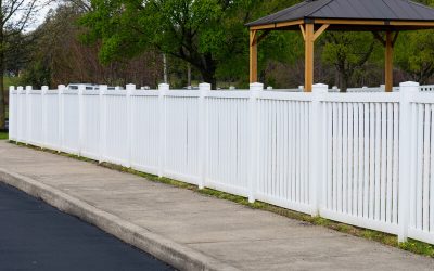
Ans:
<svg viewBox="0 0 434 271"><path fill-rule="evenodd" d="M337 103L397 103L399 93L386 92L350 92L350 93L324 93L320 95L322 102Z"/></svg>

